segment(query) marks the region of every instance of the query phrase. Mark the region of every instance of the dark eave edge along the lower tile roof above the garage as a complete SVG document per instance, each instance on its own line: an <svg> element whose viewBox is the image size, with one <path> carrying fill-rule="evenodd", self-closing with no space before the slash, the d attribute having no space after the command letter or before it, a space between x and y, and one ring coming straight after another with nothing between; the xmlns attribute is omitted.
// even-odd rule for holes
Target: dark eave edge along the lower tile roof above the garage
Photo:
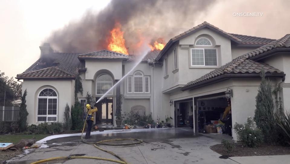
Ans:
<svg viewBox="0 0 290 164"><path fill-rule="evenodd" d="M266 77L281 77L284 78L285 77L285 73L266 73ZM253 73L253 74L224 74L222 76L217 76L215 78L212 79L208 79L206 81L203 82L199 82L184 88L181 88L181 91L186 91L186 90L191 90L191 89L195 89L195 88L200 88L200 87L204 87L207 85L211 85L217 82L221 82L230 78L242 78L242 77L261 77L261 75L259 73Z"/></svg>

